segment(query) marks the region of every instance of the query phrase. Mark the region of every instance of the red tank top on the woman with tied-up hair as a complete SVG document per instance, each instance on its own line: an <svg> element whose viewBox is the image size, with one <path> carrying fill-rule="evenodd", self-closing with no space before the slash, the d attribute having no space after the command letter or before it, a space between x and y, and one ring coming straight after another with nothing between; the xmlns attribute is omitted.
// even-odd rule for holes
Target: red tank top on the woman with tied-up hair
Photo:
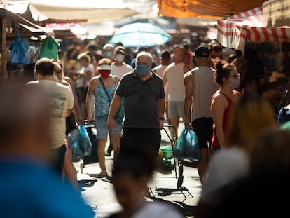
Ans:
<svg viewBox="0 0 290 218"><path fill-rule="evenodd" d="M234 92L237 93L235 90L234 90ZM216 92L216 93L218 93L218 92ZM216 95L216 93L214 95ZM230 99L230 97L228 97L224 93L222 93L222 92L219 92L219 93L223 94L223 96L226 97L226 100L228 100L228 107L225 108L225 111L223 113L223 132L226 132L226 130L228 128L228 117L230 115L230 110L232 109L234 102L233 102L233 100ZM216 125L215 124L213 125L212 130L213 130L213 134L212 134L212 149L213 149L214 147L219 146L219 139L217 138L217 135L216 135Z"/></svg>

